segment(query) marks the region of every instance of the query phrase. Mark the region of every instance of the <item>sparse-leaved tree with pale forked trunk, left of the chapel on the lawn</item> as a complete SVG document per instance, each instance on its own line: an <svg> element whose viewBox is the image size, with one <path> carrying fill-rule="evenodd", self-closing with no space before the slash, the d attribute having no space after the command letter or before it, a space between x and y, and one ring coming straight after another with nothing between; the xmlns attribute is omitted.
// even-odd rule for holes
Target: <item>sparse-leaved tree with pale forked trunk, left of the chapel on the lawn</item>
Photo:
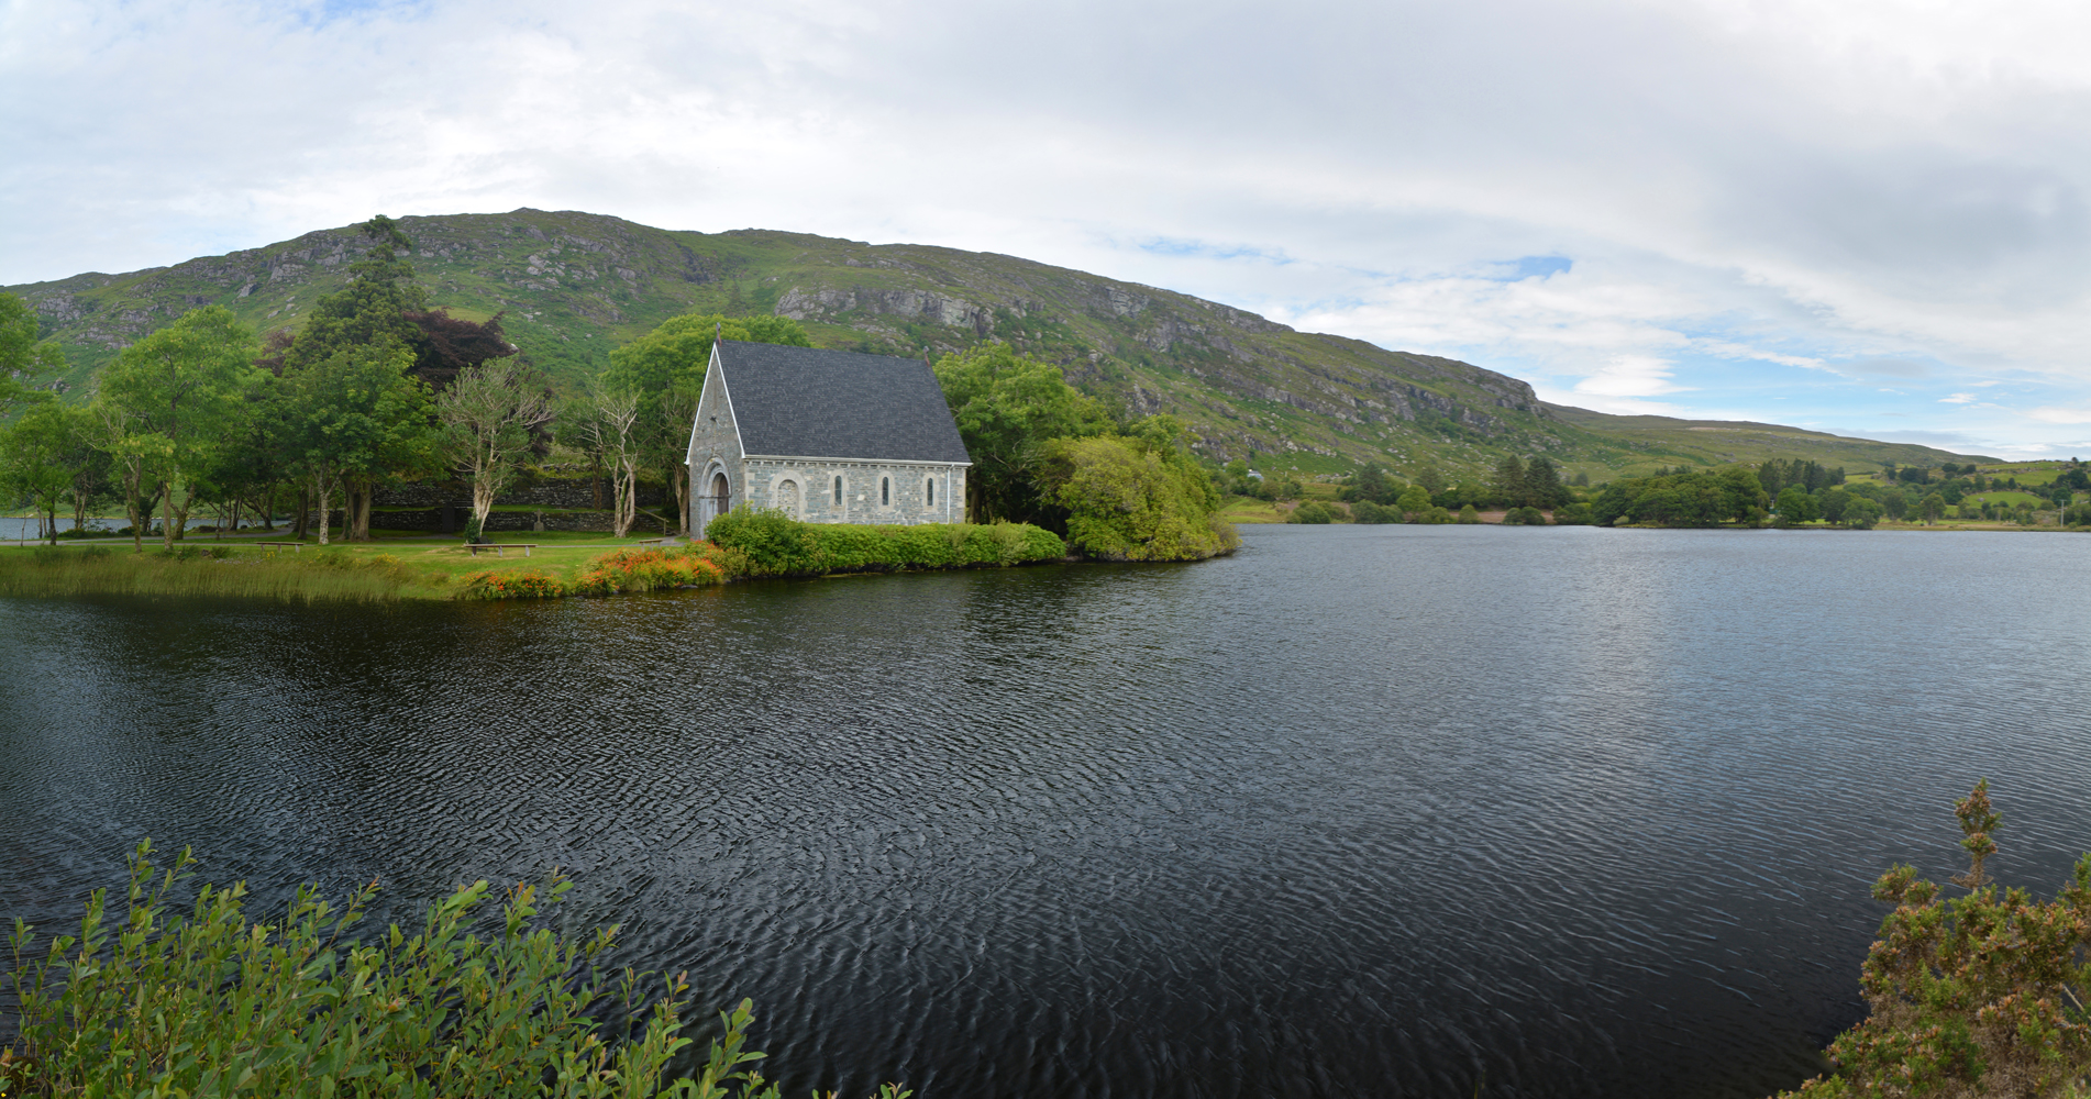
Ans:
<svg viewBox="0 0 2091 1099"><path fill-rule="evenodd" d="M535 370L496 359L452 376L435 397L435 416L443 422L443 453L473 474L473 531L483 531L493 497L552 420L552 391Z"/></svg>

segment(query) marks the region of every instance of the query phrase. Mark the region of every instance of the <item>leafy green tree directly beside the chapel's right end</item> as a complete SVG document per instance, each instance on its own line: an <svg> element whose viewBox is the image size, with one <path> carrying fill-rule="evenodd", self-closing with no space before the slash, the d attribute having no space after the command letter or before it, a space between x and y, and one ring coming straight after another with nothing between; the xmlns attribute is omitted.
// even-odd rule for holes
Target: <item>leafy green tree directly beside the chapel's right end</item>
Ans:
<svg viewBox="0 0 2091 1099"><path fill-rule="evenodd" d="M1046 481L1052 443L1110 432L1104 405L1066 384L1060 368L1002 343L937 359L937 384L972 455L966 476L972 520L1060 527L1064 483ZM1096 455L1102 460L1102 451Z"/></svg>

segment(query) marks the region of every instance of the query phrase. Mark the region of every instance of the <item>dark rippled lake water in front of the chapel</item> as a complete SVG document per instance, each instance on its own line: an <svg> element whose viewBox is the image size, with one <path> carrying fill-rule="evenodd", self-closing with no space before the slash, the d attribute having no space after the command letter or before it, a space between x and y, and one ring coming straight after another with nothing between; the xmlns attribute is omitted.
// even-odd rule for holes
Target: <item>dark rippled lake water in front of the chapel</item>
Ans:
<svg viewBox="0 0 2091 1099"><path fill-rule="evenodd" d="M1759 1097L1890 861L2091 848L2091 537L1248 529L558 604L0 600L0 917L569 867L786 1093Z"/></svg>

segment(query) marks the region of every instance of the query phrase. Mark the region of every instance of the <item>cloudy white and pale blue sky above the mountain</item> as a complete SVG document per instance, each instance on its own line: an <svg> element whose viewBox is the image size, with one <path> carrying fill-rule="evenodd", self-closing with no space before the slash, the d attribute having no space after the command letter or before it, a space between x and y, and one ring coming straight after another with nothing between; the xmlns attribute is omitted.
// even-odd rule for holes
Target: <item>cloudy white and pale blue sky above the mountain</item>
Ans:
<svg viewBox="0 0 2091 1099"><path fill-rule="evenodd" d="M2032 0L0 0L0 284L583 209L2091 455L2087 59Z"/></svg>

